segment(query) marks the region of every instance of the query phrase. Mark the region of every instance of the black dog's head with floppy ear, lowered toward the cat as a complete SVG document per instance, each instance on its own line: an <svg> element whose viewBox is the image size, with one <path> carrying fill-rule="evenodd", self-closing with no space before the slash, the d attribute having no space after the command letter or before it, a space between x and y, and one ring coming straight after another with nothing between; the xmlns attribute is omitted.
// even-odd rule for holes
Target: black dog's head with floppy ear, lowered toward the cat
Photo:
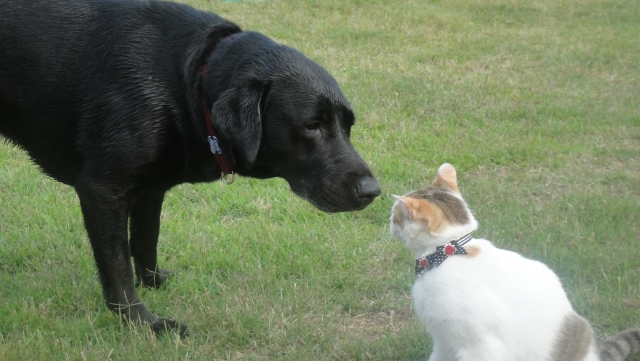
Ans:
<svg viewBox="0 0 640 361"><path fill-rule="evenodd" d="M351 144L351 105L318 64L244 32L218 45L208 69L203 86L214 127L239 174L282 177L326 212L360 210L380 195Z"/></svg>

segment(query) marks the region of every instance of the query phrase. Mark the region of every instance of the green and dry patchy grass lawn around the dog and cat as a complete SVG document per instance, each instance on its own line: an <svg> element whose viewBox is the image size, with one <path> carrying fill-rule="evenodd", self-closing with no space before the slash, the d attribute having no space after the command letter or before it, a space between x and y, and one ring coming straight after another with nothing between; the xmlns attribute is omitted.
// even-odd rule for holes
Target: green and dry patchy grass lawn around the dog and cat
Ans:
<svg viewBox="0 0 640 361"><path fill-rule="evenodd" d="M333 74L382 196L325 215L278 179L175 188L175 275L141 294L193 332L156 338L104 306L73 190L1 145L0 360L424 360L387 217L443 162L477 237L548 264L599 336L640 326L639 2L184 2Z"/></svg>

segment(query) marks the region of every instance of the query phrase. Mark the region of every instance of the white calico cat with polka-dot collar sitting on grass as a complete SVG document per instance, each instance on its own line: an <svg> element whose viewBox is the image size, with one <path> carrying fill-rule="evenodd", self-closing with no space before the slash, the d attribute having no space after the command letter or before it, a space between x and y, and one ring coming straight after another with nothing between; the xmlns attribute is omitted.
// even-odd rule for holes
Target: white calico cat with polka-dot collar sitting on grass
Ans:
<svg viewBox="0 0 640 361"><path fill-rule="evenodd" d="M450 164L431 186L394 197L390 232L416 256L429 361L621 361L640 351L640 329L598 344L546 265L472 238L478 222Z"/></svg>

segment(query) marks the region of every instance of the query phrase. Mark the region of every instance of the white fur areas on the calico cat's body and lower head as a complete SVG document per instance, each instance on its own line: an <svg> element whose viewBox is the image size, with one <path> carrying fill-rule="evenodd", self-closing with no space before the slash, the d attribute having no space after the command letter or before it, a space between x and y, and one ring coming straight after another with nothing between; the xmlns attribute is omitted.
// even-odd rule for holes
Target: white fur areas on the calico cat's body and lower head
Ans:
<svg viewBox="0 0 640 361"><path fill-rule="evenodd" d="M433 235L418 222L391 222L391 234L416 256L477 228L465 226ZM573 313L558 277L546 265L474 239L480 252L451 256L416 280L417 316L432 335L430 361L551 360L565 316ZM596 361L591 347L585 361Z"/></svg>

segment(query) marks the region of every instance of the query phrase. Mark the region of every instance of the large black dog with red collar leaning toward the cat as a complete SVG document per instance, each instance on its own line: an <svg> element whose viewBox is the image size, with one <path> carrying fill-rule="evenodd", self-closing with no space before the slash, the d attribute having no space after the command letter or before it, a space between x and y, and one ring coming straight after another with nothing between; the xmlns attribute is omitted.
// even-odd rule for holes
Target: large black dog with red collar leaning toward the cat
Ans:
<svg viewBox="0 0 640 361"><path fill-rule="evenodd" d="M353 123L324 69L211 13L135 0L0 6L0 133L75 188L108 307L156 332L186 328L141 303L129 257L138 284L165 281L165 192L222 170L282 177L327 212L363 209L380 187Z"/></svg>

